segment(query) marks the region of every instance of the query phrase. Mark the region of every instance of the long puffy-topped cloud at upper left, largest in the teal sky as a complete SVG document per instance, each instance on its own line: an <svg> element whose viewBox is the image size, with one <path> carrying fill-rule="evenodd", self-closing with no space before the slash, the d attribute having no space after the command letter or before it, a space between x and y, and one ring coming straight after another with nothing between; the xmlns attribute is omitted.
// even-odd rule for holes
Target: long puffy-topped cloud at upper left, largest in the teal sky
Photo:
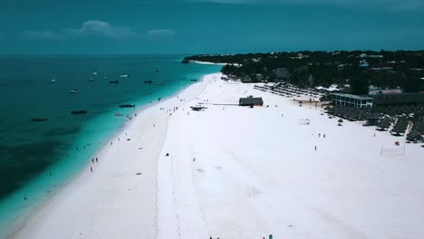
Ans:
<svg viewBox="0 0 424 239"><path fill-rule="evenodd" d="M109 23L99 20L90 20L82 23L80 28L62 29L57 32L51 30L33 31L27 30L19 33L19 37L29 40L51 40L58 41L68 38L81 38L86 36L98 36L109 39L127 39L136 37L138 33L130 28L115 27Z"/></svg>

